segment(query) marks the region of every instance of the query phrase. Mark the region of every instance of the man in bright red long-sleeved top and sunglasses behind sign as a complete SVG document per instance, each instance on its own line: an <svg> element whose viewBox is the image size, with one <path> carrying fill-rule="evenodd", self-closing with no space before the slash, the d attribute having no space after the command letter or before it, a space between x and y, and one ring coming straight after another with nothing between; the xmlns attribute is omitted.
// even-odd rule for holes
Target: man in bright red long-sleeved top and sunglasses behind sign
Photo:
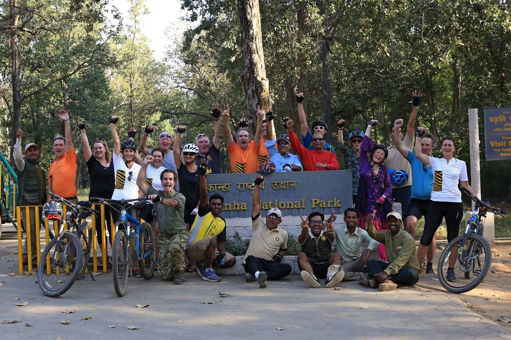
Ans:
<svg viewBox="0 0 511 340"><path fill-rule="evenodd" d="M314 150L309 150L304 145L300 144L298 137L293 131L294 122L289 117L286 117L285 126L288 130L289 141L291 147L304 161L305 171L323 171L323 170L338 170L339 161L333 152L324 150L324 138L319 131L315 131L312 135L312 145Z"/></svg>

